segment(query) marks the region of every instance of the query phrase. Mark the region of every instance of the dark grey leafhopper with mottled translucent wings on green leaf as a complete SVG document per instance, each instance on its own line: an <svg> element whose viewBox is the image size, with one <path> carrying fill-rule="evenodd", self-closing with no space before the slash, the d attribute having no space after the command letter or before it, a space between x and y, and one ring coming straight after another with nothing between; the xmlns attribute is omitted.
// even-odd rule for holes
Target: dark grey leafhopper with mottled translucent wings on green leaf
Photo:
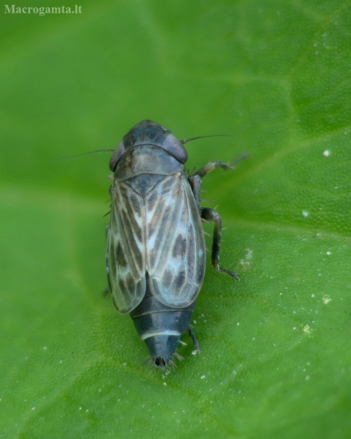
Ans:
<svg viewBox="0 0 351 439"><path fill-rule="evenodd" d="M174 364L185 331L200 351L190 317L205 275L202 220L214 222L212 266L238 279L219 266L219 213L200 206L202 177L231 166L213 161L187 177L183 144L188 140L143 120L127 132L110 159L108 285L115 307L131 315L151 361L161 369Z"/></svg>

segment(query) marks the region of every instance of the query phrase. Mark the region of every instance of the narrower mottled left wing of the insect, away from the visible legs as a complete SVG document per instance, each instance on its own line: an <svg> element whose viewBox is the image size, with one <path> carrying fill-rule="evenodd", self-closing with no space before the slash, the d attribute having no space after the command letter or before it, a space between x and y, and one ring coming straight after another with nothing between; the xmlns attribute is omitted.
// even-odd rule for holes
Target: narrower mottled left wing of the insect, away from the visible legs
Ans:
<svg viewBox="0 0 351 439"><path fill-rule="evenodd" d="M116 308L126 314L137 307L146 290L143 200L122 181L111 186L110 195L108 281Z"/></svg>

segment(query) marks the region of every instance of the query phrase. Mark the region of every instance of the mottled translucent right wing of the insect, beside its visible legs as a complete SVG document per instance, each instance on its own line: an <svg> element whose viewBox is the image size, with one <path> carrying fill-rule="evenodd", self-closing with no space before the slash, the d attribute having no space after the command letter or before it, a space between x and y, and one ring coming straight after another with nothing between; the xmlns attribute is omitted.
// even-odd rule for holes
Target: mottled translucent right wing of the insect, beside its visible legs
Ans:
<svg viewBox="0 0 351 439"><path fill-rule="evenodd" d="M184 173L167 176L145 199L146 266L157 300L183 308L197 297L205 274L200 214Z"/></svg>

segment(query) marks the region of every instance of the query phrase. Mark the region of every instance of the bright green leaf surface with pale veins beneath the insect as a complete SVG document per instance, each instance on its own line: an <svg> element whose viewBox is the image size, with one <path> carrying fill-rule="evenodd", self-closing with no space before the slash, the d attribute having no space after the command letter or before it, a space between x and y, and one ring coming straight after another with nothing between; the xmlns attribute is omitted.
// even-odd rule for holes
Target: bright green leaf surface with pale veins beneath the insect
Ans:
<svg viewBox="0 0 351 439"><path fill-rule="evenodd" d="M1 437L350 437L349 5L86 1L1 22ZM249 154L203 182L241 280L208 261L202 352L185 334L161 373L102 295L109 154L57 160L146 118L233 135L188 144L188 169Z"/></svg>

